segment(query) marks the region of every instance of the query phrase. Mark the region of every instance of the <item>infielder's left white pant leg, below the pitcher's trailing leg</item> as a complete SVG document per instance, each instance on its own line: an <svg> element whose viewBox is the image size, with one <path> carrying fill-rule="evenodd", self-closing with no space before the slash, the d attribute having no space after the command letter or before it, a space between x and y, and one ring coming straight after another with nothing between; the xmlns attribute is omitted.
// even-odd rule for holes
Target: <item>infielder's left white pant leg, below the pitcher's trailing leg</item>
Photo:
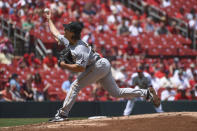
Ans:
<svg viewBox="0 0 197 131"><path fill-rule="evenodd" d="M129 116L131 114L134 104L135 104L135 101L136 101L135 98L127 101L127 105L126 105L126 108L124 109L124 113L123 113L124 116Z"/></svg>

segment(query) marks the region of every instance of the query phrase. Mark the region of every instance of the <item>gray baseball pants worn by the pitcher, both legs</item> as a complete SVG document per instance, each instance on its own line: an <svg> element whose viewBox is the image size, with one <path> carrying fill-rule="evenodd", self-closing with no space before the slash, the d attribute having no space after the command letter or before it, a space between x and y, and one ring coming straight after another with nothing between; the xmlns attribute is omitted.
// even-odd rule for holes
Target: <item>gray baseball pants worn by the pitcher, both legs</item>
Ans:
<svg viewBox="0 0 197 131"><path fill-rule="evenodd" d="M101 58L87 67L86 71L81 73L78 78L71 84L70 90L64 100L63 107L60 112L64 116L68 116L79 91L94 82L100 82L102 87L113 97L146 97L146 89L119 88L112 77L111 65L105 58Z"/></svg>

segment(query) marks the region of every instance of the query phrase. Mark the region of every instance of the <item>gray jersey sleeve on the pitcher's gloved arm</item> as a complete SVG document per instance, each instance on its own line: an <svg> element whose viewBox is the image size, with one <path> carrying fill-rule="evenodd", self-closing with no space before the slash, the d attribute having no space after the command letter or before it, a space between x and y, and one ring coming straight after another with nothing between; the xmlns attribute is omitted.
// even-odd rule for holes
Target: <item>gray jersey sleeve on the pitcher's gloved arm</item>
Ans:
<svg viewBox="0 0 197 131"><path fill-rule="evenodd" d="M89 48L80 46L78 49L76 64L85 68L89 60Z"/></svg>

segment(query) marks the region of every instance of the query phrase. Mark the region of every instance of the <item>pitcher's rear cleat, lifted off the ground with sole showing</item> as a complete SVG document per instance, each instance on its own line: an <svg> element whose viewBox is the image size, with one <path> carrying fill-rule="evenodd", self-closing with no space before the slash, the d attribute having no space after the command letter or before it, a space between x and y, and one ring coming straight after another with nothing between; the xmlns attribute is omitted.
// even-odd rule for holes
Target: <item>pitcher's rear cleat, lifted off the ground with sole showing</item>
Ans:
<svg viewBox="0 0 197 131"><path fill-rule="evenodd" d="M161 101L157 96L156 91L153 87L148 88L146 100L153 102L155 107L159 107L161 104Z"/></svg>

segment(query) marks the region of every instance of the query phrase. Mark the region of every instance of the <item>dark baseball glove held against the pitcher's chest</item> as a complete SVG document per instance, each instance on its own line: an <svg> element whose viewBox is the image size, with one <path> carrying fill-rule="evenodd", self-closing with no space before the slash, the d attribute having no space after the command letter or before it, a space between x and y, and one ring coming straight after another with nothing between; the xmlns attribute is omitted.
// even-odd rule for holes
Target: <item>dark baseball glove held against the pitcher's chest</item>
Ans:
<svg viewBox="0 0 197 131"><path fill-rule="evenodd" d="M69 48L64 48L59 53L58 57L58 65L60 66L60 62L64 61L66 64L74 64L74 60L72 58L72 54Z"/></svg>

